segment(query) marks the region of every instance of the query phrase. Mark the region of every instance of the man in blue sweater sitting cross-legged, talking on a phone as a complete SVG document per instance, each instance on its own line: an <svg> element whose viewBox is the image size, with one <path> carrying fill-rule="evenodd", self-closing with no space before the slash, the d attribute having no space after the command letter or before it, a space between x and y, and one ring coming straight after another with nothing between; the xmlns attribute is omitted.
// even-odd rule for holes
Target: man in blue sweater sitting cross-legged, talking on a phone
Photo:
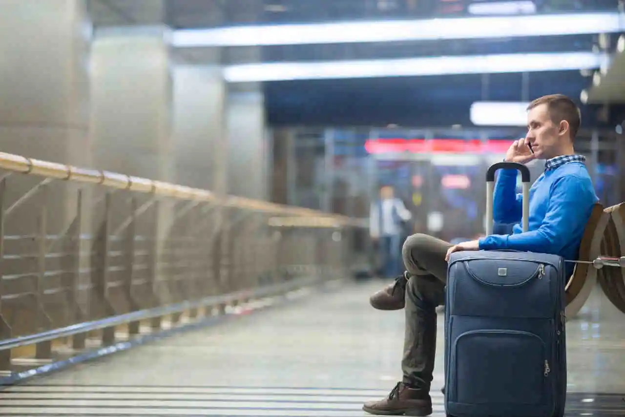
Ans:
<svg viewBox="0 0 625 417"><path fill-rule="evenodd" d="M516 249L577 259L584 227L597 201L585 158L573 150L579 109L571 99L554 94L532 101L527 110L527 136L510 146L506 161L526 164L546 159L545 171L529 193L529 231L522 233L516 224L512 234L493 234L456 245L427 234L406 239L402 248L406 272L371 296L377 309L405 307L404 375L387 398L365 403L364 411L411 416L432 413L429 389L436 356L436 307L444 303L449 254ZM522 198L516 194L516 178L516 170L498 173L493 203L497 222L521 221ZM570 274L572 267L569 269Z"/></svg>

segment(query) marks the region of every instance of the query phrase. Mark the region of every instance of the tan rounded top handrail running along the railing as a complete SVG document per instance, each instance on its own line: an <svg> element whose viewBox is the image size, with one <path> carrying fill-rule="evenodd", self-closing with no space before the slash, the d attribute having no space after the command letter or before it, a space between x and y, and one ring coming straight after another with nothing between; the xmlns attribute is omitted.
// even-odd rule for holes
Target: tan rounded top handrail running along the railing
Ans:
<svg viewBox="0 0 625 417"><path fill-rule="evenodd" d="M16 173L43 176L46 178L61 179L64 181L78 181L80 183L101 184L116 189L137 191L139 193L152 193L159 196L168 196L179 199L208 201L221 203L227 207L245 208L254 211L264 211L269 213L292 214L296 216L315 217L322 219L332 219L342 225L352 225L352 219L347 216L323 213L321 211L285 206L283 204L269 203L267 201L254 200L250 198L225 196L220 198L216 194L206 189L191 188L178 184L154 181L152 179L140 178L126 174L111 173L109 171L99 171L97 169L79 168L76 166L59 164L39 159L26 158L21 155L14 155L0 152L0 168L8 169ZM359 226L359 224L353 224Z"/></svg>

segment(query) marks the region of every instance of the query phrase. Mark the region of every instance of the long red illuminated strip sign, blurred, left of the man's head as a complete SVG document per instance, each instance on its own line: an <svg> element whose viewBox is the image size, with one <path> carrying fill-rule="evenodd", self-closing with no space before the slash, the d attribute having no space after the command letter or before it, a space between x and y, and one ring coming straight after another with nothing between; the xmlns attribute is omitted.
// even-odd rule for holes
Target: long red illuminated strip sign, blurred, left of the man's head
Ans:
<svg viewBox="0 0 625 417"><path fill-rule="evenodd" d="M381 153L506 153L512 141L489 139L367 139L364 149Z"/></svg>

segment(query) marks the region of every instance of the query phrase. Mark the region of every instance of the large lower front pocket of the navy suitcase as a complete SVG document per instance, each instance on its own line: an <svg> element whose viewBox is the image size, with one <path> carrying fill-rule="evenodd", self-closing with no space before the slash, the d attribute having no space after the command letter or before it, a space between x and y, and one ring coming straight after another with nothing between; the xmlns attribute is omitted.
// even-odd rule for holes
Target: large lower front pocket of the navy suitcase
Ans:
<svg viewBox="0 0 625 417"><path fill-rule="evenodd" d="M473 330L454 341L452 401L464 404L548 403L546 381L551 370L547 349L533 333Z"/></svg>

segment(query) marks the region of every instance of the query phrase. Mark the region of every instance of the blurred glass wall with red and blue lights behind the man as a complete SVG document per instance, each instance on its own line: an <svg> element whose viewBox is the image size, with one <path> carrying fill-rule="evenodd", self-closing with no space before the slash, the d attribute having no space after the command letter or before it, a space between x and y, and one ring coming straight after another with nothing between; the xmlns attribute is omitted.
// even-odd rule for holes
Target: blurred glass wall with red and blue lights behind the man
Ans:
<svg viewBox="0 0 625 417"><path fill-rule="evenodd" d="M526 133L524 128L291 131L294 174L289 176L289 203L368 218L379 186L388 184L413 214L409 233L421 231L446 240L483 233L486 169L501 161L512 140ZM587 157L605 206L625 198L617 181L616 149L614 132L582 131L576 139L576 151ZM536 161L530 168L533 181L543 164Z"/></svg>

